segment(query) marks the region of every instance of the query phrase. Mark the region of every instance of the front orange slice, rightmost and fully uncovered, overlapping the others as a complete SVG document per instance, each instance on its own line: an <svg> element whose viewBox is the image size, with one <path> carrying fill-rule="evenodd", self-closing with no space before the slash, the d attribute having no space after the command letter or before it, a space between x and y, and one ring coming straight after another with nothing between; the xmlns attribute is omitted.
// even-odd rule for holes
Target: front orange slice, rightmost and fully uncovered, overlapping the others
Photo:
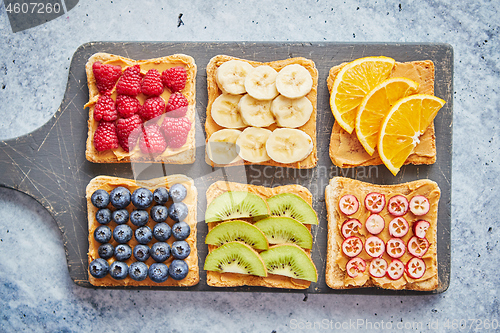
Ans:
<svg viewBox="0 0 500 333"><path fill-rule="evenodd" d="M436 96L418 94L400 99L389 110L377 146L380 158L394 176L445 103Z"/></svg>

